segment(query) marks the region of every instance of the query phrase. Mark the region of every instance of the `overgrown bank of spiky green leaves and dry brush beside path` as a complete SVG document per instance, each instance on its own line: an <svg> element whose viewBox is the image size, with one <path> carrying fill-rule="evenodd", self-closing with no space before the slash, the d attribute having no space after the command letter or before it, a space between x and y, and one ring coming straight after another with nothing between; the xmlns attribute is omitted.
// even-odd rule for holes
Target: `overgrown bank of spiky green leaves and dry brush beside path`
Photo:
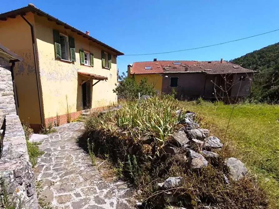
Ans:
<svg viewBox="0 0 279 209"><path fill-rule="evenodd" d="M86 133L78 142L86 149L89 139L96 156L109 159L114 173L127 177L142 191L140 198L146 208L268 208L267 195L258 187L255 176L248 173L239 181L229 176L229 183L224 180L224 174L228 174L224 162L231 157L227 146L212 149L219 154L214 159L204 155L197 144L188 148L171 146L175 133L182 130L179 133L183 135L189 128L182 123L187 114L193 116L193 124L202 122L202 118L184 111L183 105L169 96L124 102L119 111L88 117ZM189 154L190 148L197 158ZM201 160L208 161L208 166L193 169ZM169 177L177 177L180 182L166 189L162 182Z"/></svg>

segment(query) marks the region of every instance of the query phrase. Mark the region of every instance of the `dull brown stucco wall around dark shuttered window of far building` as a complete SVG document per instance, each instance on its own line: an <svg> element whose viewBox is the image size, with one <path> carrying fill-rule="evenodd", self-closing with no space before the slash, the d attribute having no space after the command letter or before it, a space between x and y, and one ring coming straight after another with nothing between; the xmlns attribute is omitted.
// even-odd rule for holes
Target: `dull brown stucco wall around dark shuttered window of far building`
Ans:
<svg viewBox="0 0 279 209"><path fill-rule="evenodd" d="M171 93L171 77L178 77L177 99L197 98L203 95L205 74L202 73L169 73L167 78L163 76L162 92Z"/></svg>

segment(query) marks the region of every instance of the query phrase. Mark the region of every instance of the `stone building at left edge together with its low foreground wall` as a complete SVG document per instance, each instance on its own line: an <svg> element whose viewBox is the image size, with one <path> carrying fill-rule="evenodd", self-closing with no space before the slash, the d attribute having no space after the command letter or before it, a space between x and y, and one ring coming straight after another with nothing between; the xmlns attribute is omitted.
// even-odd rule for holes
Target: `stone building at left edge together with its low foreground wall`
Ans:
<svg viewBox="0 0 279 209"><path fill-rule="evenodd" d="M22 58L0 44L0 208L37 209L35 177L14 99L13 67L17 61ZM4 196L6 201L2 201Z"/></svg>

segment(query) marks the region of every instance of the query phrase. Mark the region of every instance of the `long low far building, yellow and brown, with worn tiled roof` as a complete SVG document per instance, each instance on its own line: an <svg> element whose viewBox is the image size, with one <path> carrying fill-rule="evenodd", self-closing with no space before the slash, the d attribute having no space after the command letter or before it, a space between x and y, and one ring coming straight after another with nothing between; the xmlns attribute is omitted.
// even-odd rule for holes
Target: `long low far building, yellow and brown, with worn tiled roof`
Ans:
<svg viewBox="0 0 279 209"><path fill-rule="evenodd" d="M177 92L177 99L236 100L251 91L252 70L223 61L147 61L128 66L128 76L157 81L155 90ZM156 79L155 79L156 78ZM160 79L159 79L160 78Z"/></svg>

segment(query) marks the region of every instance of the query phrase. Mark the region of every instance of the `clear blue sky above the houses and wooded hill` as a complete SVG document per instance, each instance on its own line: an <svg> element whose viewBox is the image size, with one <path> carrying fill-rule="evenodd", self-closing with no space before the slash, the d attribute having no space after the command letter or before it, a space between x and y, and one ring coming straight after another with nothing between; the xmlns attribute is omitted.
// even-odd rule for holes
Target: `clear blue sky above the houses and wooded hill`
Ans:
<svg viewBox="0 0 279 209"><path fill-rule="evenodd" d="M2 2L0 13L32 2L36 7L128 54L157 53L231 41L279 28L278 0ZM231 60L279 41L279 31L204 49L161 55L120 56L126 72L135 61Z"/></svg>

